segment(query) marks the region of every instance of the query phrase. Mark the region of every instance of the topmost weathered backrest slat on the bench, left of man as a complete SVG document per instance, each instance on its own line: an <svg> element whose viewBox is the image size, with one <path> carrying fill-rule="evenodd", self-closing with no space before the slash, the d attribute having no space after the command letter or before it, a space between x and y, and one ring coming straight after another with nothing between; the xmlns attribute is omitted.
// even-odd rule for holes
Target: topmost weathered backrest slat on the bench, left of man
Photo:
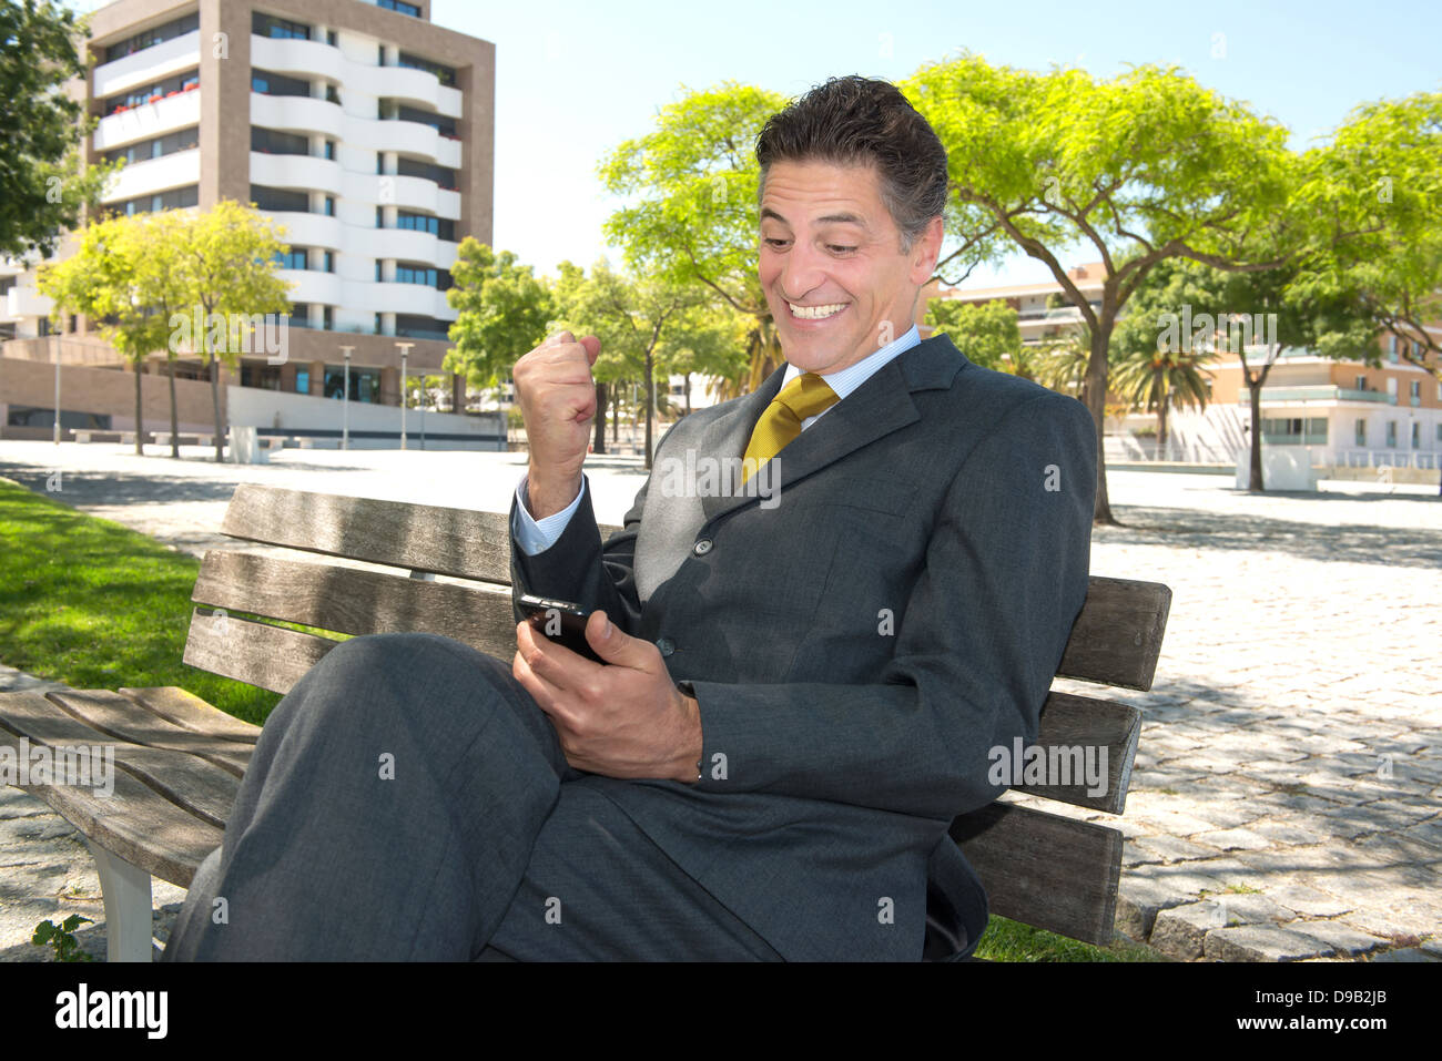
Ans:
<svg viewBox="0 0 1442 1061"><path fill-rule="evenodd" d="M221 533L456 578L510 581L510 528L502 512L241 483Z"/></svg>

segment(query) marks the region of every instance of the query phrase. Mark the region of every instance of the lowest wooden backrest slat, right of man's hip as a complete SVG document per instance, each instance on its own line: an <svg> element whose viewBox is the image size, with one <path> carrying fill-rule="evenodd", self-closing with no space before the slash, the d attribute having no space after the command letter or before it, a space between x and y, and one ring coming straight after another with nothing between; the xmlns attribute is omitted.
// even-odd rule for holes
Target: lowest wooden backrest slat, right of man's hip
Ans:
<svg viewBox="0 0 1442 1061"><path fill-rule="evenodd" d="M949 832L994 914L1084 943L1112 941L1119 830L998 802L962 814Z"/></svg>

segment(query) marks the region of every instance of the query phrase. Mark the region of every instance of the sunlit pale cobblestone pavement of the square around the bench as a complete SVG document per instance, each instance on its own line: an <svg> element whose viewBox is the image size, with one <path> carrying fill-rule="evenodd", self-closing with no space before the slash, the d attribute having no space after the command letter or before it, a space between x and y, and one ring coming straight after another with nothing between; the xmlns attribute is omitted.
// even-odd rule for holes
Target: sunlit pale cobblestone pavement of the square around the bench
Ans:
<svg viewBox="0 0 1442 1061"><path fill-rule="evenodd" d="M236 545L215 528L238 481L503 510L525 467L521 454L294 450L239 467L193 454L6 441L0 474L43 490L61 471L62 500L202 552ZM597 518L620 522L639 461L596 460L590 479ZM1436 489L1252 497L1230 477L1136 471L1109 486L1125 526L1094 532L1092 572L1174 594L1154 691L1113 696L1144 712L1126 813L1076 812L1126 835L1118 928L1181 960L1442 960ZM156 892L163 941L183 891ZM101 921L98 894L75 832L0 790L0 960L33 959L45 917ZM101 925L87 930L102 951Z"/></svg>

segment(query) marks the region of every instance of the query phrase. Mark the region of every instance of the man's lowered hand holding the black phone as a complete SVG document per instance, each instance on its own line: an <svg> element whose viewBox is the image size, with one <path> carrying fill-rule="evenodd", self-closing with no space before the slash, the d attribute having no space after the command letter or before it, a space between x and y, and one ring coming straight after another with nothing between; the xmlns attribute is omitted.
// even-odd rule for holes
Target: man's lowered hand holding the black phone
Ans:
<svg viewBox="0 0 1442 1061"><path fill-rule="evenodd" d="M510 673L551 718L567 761L607 777L662 777L695 783L701 709L671 680L660 650L593 611L585 640L609 666L593 663L516 626Z"/></svg>

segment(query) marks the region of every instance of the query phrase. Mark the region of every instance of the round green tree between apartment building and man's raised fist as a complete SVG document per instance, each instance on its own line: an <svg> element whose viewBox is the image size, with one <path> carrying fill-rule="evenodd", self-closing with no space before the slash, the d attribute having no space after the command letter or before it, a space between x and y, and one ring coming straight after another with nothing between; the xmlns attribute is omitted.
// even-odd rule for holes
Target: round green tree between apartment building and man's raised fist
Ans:
<svg viewBox="0 0 1442 1061"><path fill-rule="evenodd" d="M474 236L461 241L451 277L446 301L460 316L450 326L453 347L443 366L476 389L496 386L547 337L555 300L529 265L516 264L515 252L496 254Z"/></svg>

